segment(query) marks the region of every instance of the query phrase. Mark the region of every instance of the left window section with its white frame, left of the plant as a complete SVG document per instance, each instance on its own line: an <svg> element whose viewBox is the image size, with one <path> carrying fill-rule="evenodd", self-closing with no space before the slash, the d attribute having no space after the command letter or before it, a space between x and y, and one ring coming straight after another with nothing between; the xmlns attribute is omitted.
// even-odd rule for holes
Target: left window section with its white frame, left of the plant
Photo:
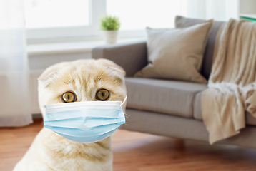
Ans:
<svg viewBox="0 0 256 171"><path fill-rule="evenodd" d="M85 38L99 34L105 0L24 0L29 41Z"/></svg>

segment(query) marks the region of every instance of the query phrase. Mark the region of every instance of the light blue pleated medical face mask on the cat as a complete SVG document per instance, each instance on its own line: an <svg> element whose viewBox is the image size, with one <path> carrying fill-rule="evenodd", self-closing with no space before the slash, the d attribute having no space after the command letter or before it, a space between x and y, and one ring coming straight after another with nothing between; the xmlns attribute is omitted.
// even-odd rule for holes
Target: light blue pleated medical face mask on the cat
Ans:
<svg viewBox="0 0 256 171"><path fill-rule="evenodd" d="M87 101L45 105L44 127L76 142L92 143L112 135L125 123L121 101Z"/></svg>

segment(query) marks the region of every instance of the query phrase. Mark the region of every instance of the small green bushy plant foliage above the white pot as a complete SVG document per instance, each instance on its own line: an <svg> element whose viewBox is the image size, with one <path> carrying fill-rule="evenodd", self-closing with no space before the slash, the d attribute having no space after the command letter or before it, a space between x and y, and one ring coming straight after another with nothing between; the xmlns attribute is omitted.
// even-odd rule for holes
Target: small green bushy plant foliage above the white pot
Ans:
<svg viewBox="0 0 256 171"><path fill-rule="evenodd" d="M104 16L101 23L101 29L104 31L117 31L120 28L120 22L116 16Z"/></svg>

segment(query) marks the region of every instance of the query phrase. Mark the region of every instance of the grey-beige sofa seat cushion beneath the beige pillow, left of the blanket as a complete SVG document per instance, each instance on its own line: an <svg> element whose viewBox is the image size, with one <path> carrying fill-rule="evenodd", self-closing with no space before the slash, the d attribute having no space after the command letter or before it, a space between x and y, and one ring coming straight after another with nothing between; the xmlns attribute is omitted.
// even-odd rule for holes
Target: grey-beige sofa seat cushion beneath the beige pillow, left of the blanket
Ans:
<svg viewBox="0 0 256 171"><path fill-rule="evenodd" d="M151 78L126 78L127 108L193 118L195 95L206 84Z"/></svg>

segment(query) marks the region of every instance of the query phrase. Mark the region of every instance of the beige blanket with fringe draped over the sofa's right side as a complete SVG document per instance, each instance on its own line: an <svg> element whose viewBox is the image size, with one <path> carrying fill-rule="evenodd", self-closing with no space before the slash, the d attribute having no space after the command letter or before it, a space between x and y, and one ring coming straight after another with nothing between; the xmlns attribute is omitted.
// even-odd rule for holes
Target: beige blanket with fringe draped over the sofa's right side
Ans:
<svg viewBox="0 0 256 171"><path fill-rule="evenodd" d="M256 117L256 23L230 19L224 24L213 60L201 101L210 144L240 133L246 111Z"/></svg>

